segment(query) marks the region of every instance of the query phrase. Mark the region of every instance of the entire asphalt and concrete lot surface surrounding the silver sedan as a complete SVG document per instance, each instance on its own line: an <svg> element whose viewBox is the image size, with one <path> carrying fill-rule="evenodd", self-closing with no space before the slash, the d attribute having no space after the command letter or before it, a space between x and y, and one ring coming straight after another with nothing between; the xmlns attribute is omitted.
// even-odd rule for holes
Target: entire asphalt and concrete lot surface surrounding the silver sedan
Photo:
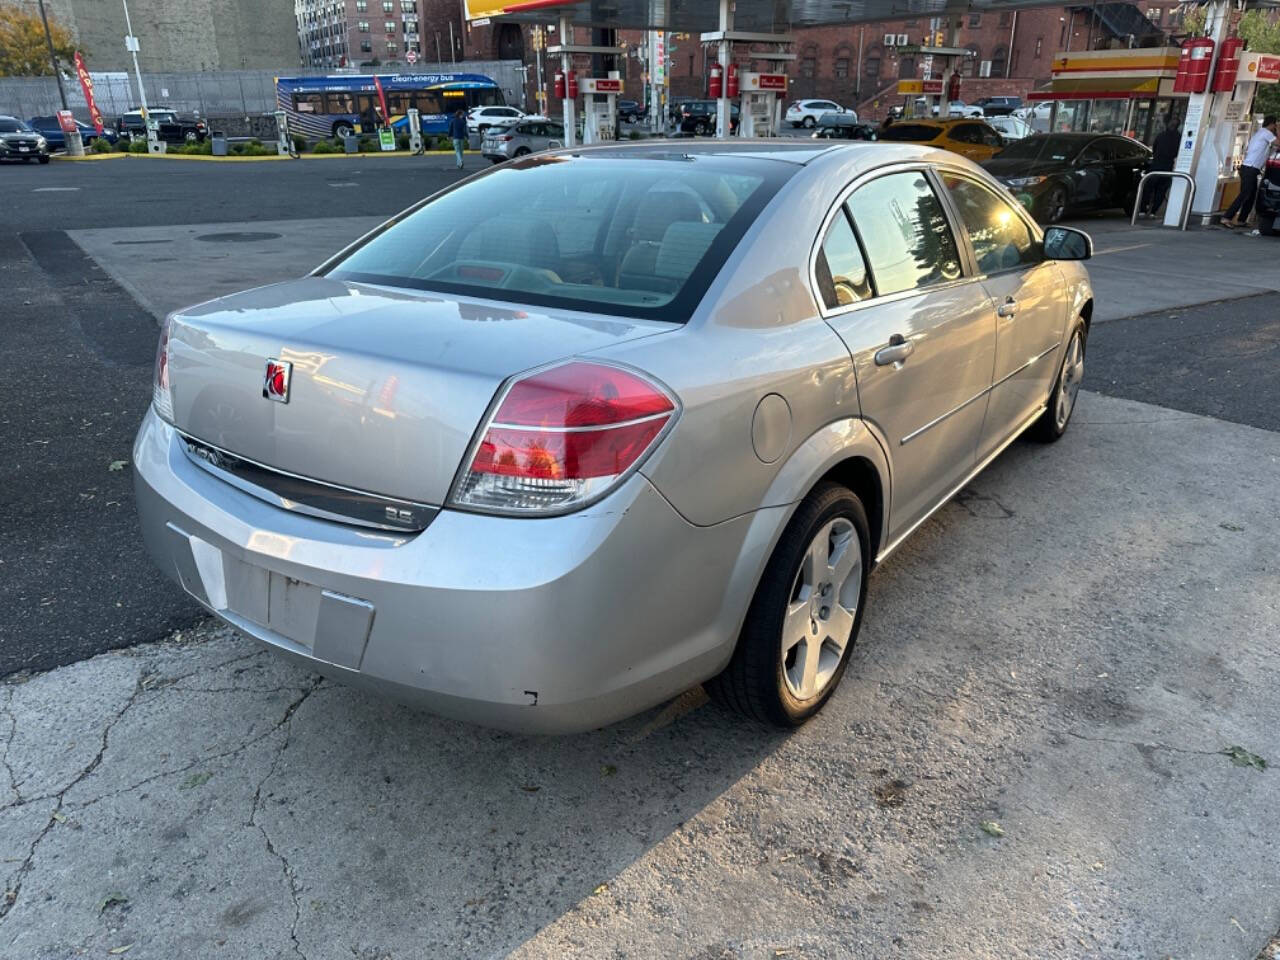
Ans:
<svg viewBox="0 0 1280 960"><path fill-rule="evenodd" d="M454 177L0 169L0 955L1270 957L1280 246L1075 224L1098 302L1071 430L874 573L814 722L695 690L518 737L204 618L133 515L157 319Z"/></svg>

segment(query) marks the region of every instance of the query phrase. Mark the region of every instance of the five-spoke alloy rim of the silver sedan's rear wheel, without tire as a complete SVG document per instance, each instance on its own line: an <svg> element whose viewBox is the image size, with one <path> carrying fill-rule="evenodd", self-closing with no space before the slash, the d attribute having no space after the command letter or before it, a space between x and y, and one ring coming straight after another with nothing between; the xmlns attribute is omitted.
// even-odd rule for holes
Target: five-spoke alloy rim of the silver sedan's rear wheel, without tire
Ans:
<svg viewBox="0 0 1280 960"><path fill-rule="evenodd" d="M820 695L849 645L863 584L861 540L845 517L809 543L782 618L782 676L797 700Z"/></svg>

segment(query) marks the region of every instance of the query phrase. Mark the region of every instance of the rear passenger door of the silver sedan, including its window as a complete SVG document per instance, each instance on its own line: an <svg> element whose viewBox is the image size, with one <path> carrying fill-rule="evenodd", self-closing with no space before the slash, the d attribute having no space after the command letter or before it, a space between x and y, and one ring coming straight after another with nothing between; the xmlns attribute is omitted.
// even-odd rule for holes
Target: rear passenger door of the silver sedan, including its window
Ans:
<svg viewBox="0 0 1280 960"><path fill-rule="evenodd" d="M991 297L966 276L924 169L870 175L828 215L814 285L854 358L863 417L893 471L890 535L968 476L995 361Z"/></svg>

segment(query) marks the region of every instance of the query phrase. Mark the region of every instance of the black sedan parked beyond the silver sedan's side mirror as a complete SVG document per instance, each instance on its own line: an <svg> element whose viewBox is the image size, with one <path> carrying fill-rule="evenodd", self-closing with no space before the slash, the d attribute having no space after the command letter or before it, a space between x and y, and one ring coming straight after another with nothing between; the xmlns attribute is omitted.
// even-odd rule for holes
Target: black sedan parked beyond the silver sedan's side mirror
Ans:
<svg viewBox="0 0 1280 960"><path fill-rule="evenodd" d="M1041 223L1069 212L1133 212L1151 151L1135 140L1097 133L1039 133L1015 141L983 166Z"/></svg>

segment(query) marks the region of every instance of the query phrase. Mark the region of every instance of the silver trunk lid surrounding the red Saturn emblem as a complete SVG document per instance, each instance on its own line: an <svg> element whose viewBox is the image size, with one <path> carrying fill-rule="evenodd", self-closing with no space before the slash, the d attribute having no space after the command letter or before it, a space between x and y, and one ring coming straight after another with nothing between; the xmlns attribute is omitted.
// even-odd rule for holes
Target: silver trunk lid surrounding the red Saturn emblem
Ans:
<svg viewBox="0 0 1280 960"><path fill-rule="evenodd" d="M276 471L442 504L504 380L672 329L312 276L173 316L174 425ZM268 396L269 361L292 365L285 398Z"/></svg>

